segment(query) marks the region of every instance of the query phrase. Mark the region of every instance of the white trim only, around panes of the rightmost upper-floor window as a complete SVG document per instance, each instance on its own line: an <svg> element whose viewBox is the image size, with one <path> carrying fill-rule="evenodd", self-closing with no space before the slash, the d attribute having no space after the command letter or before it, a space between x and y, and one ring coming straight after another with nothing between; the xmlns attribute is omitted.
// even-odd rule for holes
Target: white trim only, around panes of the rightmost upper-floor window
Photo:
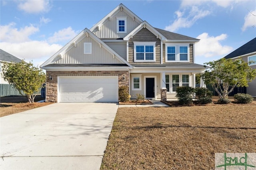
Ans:
<svg viewBox="0 0 256 170"><path fill-rule="evenodd" d="M168 61L167 60L167 49L168 47L175 47L175 61ZM187 47L188 48L188 58L187 60L180 60L180 47ZM190 62L190 47L189 44L177 44L177 43L165 43L165 62L166 63L182 63L182 62Z"/></svg>

